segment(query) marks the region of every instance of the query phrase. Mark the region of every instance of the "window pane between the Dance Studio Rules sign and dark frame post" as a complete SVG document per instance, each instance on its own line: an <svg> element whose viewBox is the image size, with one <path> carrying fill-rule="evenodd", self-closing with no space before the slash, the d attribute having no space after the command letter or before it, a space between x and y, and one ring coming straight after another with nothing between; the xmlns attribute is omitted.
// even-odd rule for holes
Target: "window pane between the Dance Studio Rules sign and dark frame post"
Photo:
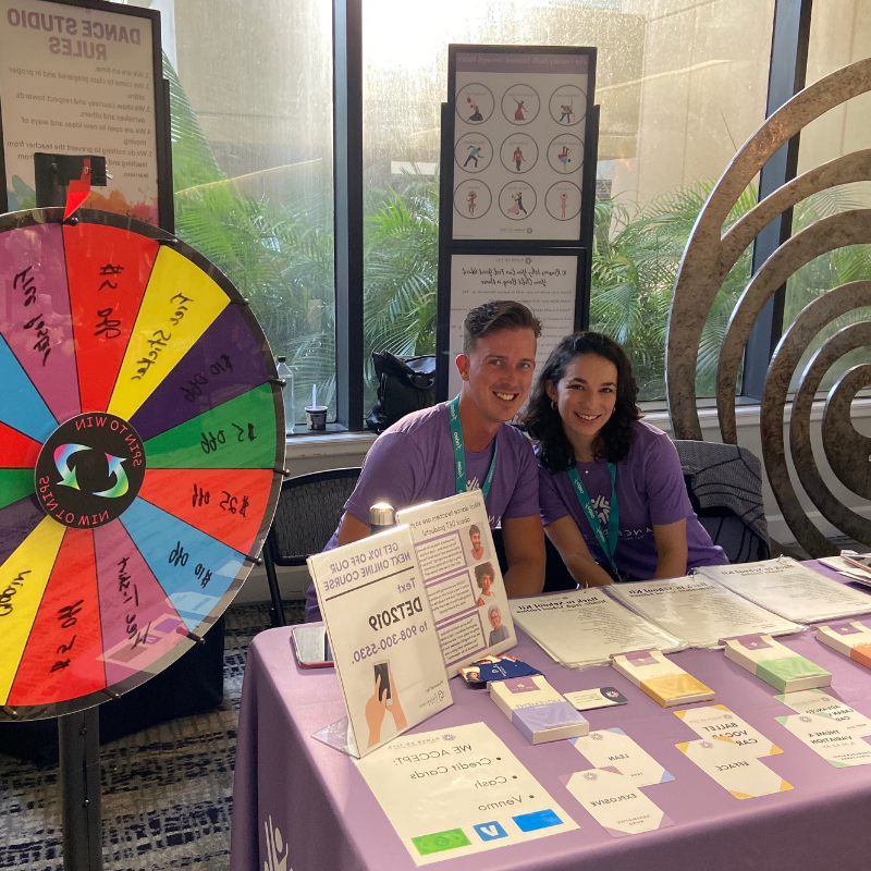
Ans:
<svg viewBox="0 0 871 871"><path fill-rule="evenodd" d="M312 385L332 419L332 4L163 0L161 13L174 32L164 65L176 233L250 299L273 354L287 357L296 421Z"/></svg>

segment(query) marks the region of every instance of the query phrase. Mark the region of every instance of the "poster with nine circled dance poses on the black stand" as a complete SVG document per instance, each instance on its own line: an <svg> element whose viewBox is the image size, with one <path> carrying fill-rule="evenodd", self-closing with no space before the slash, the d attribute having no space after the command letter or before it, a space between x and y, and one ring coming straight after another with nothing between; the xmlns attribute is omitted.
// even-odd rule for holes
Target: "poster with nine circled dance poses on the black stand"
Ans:
<svg viewBox="0 0 871 871"><path fill-rule="evenodd" d="M453 238L578 241L588 53L457 50Z"/></svg>

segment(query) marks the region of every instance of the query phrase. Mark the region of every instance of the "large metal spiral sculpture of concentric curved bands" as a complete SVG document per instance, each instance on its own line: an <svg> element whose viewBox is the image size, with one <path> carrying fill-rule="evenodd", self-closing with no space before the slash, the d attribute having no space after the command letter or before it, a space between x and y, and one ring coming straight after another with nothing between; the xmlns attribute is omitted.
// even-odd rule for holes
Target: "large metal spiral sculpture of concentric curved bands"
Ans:
<svg viewBox="0 0 871 871"><path fill-rule="evenodd" d="M708 198L687 244L675 282L666 340L668 412L676 439L701 440L696 410L696 365L708 314L741 253L772 220L812 194L850 182L871 181L871 149L844 155L785 184L762 199L724 235L723 223L738 197L780 148L811 121L871 90L871 59L845 66L793 97L747 140ZM847 245L871 243L871 209L823 218L784 242L747 284L729 320L716 372L716 407L722 440L737 444L735 385L750 331L765 303L786 280L815 257ZM783 415L789 382L801 354L826 324L871 305L871 281L854 281L814 299L784 333L772 357L762 394L762 454L772 490L798 543L812 556L837 549L801 507L789 479ZM826 487L810 444L810 414L825 372L847 352L871 346L871 323L844 328L813 355L801 375L789 418L789 449L802 488L831 524L871 547L871 520L856 514ZM871 385L871 365L847 371L829 392L822 418L826 459L838 480L871 499L871 439L850 421L850 403Z"/></svg>

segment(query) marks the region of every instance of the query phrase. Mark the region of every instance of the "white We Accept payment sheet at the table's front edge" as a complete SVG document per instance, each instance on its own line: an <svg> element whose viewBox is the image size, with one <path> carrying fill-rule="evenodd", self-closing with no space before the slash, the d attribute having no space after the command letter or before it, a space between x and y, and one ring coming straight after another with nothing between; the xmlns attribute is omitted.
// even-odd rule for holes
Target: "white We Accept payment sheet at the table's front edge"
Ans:
<svg viewBox="0 0 871 871"><path fill-rule="evenodd" d="M406 735L357 768L419 866L579 827L484 723Z"/></svg>

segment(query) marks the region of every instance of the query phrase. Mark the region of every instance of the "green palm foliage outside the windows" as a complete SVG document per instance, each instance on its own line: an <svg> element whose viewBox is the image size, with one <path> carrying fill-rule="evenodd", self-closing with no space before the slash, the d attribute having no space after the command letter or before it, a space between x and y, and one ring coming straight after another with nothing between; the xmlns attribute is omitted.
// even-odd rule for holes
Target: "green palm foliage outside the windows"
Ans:
<svg viewBox="0 0 871 871"><path fill-rule="evenodd" d="M296 372L297 408L317 384L334 409L334 277L332 182L326 170L292 180L281 198L255 196L228 179L171 65L170 79L176 232L218 265L247 296L274 353ZM689 234L711 183L676 188L640 208L617 199L596 204L590 321L628 351L640 398L665 395L668 306ZM286 193L289 192L289 193ZM732 225L756 204L748 188L729 214ZM850 191L820 194L796 208L796 228L856 208ZM434 351L438 283L438 181L407 175L395 188L369 188L365 198L364 338L367 407L375 400L370 353ZM713 395L719 349L728 318L750 277L746 252L714 302L699 348L697 394ZM811 298L871 277L871 246L818 258L790 280L787 319ZM861 312L849 316L856 319ZM831 328L833 331L837 326Z"/></svg>

